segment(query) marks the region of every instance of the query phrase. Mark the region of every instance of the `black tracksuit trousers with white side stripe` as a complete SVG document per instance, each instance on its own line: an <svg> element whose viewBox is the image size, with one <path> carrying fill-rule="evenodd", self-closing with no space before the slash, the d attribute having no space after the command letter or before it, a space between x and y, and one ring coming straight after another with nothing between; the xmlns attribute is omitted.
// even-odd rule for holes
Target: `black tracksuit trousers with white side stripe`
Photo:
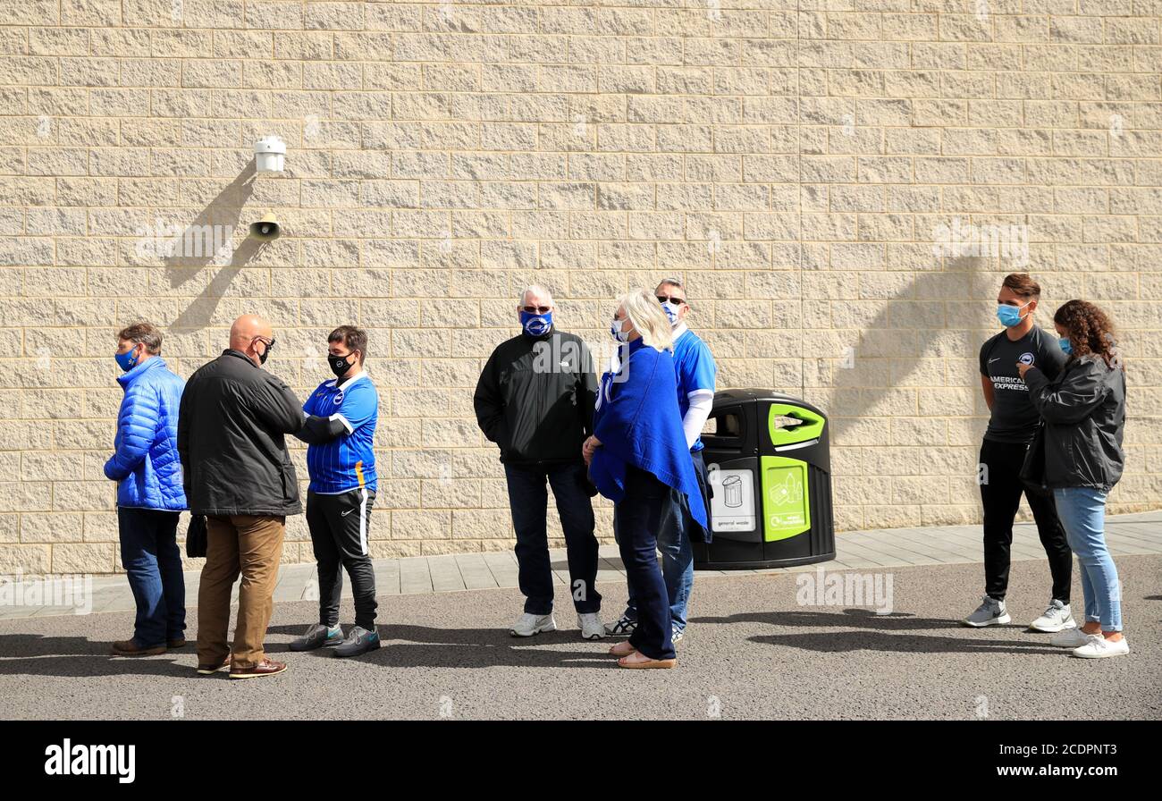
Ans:
<svg viewBox="0 0 1162 801"><path fill-rule="evenodd" d="M354 595L356 625L375 630L375 571L367 548L374 503L374 489L307 493L307 527L318 562L318 622L323 625L338 625L345 567Z"/></svg>

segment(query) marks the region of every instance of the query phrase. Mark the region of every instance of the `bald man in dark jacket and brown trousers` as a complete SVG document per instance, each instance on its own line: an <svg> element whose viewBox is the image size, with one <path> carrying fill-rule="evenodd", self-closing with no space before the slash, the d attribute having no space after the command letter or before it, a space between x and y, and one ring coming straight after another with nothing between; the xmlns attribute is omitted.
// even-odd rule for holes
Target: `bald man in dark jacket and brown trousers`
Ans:
<svg viewBox="0 0 1162 801"><path fill-rule="evenodd" d="M186 382L178 452L191 514L206 515L206 566L198 589L198 672L229 665L231 679L274 675L266 657L287 515L302 514L286 435L302 428L299 399L263 370L271 324L252 314L230 327L230 346ZM242 573L234 648L230 589Z"/></svg>

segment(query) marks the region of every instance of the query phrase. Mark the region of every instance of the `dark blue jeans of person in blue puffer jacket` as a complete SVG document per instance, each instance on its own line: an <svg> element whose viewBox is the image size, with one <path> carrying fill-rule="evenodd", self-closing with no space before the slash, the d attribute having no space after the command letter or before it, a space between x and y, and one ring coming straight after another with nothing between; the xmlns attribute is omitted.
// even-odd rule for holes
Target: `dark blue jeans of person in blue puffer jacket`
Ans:
<svg viewBox="0 0 1162 801"><path fill-rule="evenodd" d="M186 631L186 579L178 549L178 513L117 509L121 566L137 603L134 639L141 648L180 639Z"/></svg>

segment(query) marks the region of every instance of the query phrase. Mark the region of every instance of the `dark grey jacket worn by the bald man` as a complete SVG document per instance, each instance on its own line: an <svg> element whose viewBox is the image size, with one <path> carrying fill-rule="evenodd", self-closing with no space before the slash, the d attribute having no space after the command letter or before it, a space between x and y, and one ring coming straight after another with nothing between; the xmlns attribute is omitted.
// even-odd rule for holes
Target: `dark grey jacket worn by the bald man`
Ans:
<svg viewBox="0 0 1162 801"><path fill-rule="evenodd" d="M178 453L195 515L302 513L284 435L302 428L299 399L236 350L199 367L178 412Z"/></svg>

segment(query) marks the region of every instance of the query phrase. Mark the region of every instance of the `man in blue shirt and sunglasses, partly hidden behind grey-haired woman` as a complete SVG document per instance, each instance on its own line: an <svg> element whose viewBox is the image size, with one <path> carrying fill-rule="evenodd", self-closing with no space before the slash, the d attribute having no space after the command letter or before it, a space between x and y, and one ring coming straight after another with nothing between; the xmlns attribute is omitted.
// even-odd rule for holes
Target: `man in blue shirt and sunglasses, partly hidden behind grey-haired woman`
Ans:
<svg viewBox="0 0 1162 801"><path fill-rule="evenodd" d="M664 278L654 291L662 312L674 328L674 371L677 378L677 406L682 413L682 430L686 432L686 444L694 460L694 472L702 491L705 508L710 508L710 493L706 482L706 463L702 458L702 427L710 416L715 400L715 357L702 338L686 324L686 315L690 305L686 301L686 287L680 278ZM690 507L686 495L670 493L670 514L674 525L664 527L659 532L658 550L661 551L662 577L669 594L669 615L673 625L672 641L677 644L686 632L687 609L690 602L690 591L694 588L694 548L690 544L691 531L703 531L702 525L690 517ZM698 535L702 537L703 535ZM706 542L710 531L705 530ZM609 635L630 635L638 624L637 603L630 595L625 614L615 623L605 625Z"/></svg>

